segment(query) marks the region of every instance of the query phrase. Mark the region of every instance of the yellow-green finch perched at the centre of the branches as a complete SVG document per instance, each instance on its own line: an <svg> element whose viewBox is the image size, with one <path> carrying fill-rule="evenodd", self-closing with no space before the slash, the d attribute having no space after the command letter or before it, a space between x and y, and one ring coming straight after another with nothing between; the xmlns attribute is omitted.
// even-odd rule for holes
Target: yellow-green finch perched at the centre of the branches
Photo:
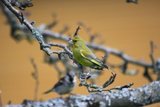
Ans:
<svg viewBox="0 0 160 107"><path fill-rule="evenodd" d="M97 70L108 69L108 65L98 59L96 55L87 47L84 40L78 35L80 27L76 29L72 39L72 52L76 62L82 66L90 67Z"/></svg>

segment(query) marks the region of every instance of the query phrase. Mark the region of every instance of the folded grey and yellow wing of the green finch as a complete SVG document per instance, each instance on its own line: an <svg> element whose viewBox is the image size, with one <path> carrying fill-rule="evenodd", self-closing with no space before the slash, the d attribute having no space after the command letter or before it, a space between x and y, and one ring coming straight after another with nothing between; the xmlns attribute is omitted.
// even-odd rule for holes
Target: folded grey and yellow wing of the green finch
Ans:
<svg viewBox="0 0 160 107"><path fill-rule="evenodd" d="M88 61L101 66L101 64L97 61L98 59L96 58L96 56L90 50L80 50L80 54L83 58L87 59Z"/></svg>

